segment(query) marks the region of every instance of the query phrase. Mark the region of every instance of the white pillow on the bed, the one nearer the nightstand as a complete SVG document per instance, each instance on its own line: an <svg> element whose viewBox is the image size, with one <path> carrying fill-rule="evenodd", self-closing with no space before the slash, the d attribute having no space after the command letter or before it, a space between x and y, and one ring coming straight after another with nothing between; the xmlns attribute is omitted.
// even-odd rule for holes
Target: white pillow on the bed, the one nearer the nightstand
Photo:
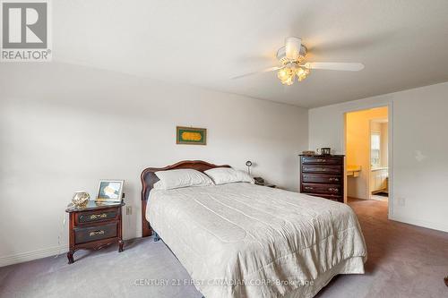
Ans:
<svg viewBox="0 0 448 298"><path fill-rule="evenodd" d="M160 179L157 183L154 183L154 189L156 190L213 185L207 175L193 169L158 171L155 175Z"/></svg>

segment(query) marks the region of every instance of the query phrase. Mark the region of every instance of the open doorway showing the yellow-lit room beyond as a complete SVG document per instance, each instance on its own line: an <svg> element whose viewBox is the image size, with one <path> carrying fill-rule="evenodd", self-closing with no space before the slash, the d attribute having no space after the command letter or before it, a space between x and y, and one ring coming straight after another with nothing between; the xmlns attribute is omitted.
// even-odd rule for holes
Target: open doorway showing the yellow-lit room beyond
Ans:
<svg viewBox="0 0 448 298"><path fill-rule="evenodd" d="M389 107L345 114L347 196L360 200L389 200Z"/></svg>

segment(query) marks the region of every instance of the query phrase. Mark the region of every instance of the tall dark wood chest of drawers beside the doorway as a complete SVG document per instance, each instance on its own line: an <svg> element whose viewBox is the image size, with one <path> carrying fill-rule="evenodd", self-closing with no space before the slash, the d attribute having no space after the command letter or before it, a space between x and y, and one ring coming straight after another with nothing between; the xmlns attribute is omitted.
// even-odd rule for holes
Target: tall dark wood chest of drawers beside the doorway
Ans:
<svg viewBox="0 0 448 298"><path fill-rule="evenodd" d="M344 201L344 156L301 155L300 192Z"/></svg>

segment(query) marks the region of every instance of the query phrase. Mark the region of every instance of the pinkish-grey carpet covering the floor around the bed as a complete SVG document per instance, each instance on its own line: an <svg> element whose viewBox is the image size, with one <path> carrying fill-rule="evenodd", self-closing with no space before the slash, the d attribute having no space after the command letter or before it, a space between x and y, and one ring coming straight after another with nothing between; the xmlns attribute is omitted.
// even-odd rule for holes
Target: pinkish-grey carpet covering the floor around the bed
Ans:
<svg viewBox="0 0 448 298"><path fill-rule="evenodd" d="M387 220L387 203L352 200L366 237L366 275L335 277L317 297L448 297L448 234ZM0 297L201 297L168 248L151 238L0 268ZM172 285L173 279L179 285ZM150 285L151 281L168 285ZM207 297L212 298L212 297Z"/></svg>

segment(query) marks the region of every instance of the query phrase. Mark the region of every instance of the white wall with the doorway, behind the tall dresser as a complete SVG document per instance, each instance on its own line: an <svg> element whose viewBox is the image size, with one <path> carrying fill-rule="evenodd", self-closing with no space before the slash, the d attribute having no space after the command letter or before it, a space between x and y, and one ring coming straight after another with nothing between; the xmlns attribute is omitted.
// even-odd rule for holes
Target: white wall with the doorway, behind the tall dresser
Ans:
<svg viewBox="0 0 448 298"><path fill-rule="evenodd" d="M448 83L309 110L310 149L344 154L344 113L391 104L390 217L448 232Z"/></svg>

